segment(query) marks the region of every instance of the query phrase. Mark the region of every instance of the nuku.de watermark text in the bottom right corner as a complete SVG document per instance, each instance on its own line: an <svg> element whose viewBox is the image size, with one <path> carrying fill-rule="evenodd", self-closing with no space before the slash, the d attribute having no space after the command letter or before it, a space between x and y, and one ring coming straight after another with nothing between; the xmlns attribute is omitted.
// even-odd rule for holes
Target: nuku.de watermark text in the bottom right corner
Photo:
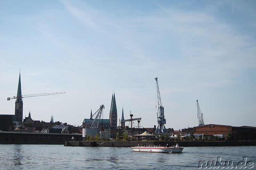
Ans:
<svg viewBox="0 0 256 170"><path fill-rule="evenodd" d="M226 160L223 161L221 160L221 157L218 157L217 160L213 160L213 161L199 161L198 163L198 168L212 168L212 169L244 169L244 168L248 168L251 169L253 168L254 163L251 160L247 160L247 157L243 157L243 160L239 161L238 163L233 162L232 160Z"/></svg>

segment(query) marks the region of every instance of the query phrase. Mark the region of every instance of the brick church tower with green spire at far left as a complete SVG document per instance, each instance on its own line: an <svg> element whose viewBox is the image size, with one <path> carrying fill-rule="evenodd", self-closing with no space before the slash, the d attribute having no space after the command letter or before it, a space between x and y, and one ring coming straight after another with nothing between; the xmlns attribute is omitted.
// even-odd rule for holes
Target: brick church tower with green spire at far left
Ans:
<svg viewBox="0 0 256 170"><path fill-rule="evenodd" d="M19 78L17 98L15 101L15 121L22 122L23 118L23 101L21 98L21 83Z"/></svg>

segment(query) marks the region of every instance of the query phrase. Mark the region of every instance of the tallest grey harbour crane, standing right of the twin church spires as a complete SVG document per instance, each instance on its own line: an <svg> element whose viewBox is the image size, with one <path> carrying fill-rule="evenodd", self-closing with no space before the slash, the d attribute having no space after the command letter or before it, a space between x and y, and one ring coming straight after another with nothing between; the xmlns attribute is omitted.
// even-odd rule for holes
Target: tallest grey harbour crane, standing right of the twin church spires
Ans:
<svg viewBox="0 0 256 170"><path fill-rule="evenodd" d="M155 132L156 133L157 132L167 133L167 130L164 126L164 124L166 123L166 119L164 119L164 107L162 106L162 101L161 101L161 97L160 97L160 91L159 91L157 78L155 78L155 80L156 80L156 90L157 90L157 100L158 100L158 110L157 110L158 126L157 126Z"/></svg>

